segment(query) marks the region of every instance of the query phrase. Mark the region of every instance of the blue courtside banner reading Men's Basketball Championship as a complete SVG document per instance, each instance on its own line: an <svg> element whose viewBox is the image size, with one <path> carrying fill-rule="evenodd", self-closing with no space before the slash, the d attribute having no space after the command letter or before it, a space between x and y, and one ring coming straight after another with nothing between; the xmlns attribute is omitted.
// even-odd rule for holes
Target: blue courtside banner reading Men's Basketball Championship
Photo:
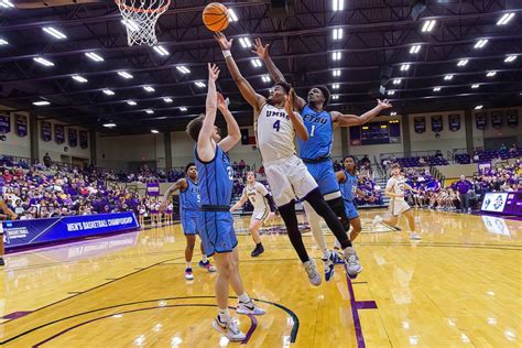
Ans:
<svg viewBox="0 0 522 348"><path fill-rule="evenodd" d="M8 249L120 232L139 227L133 213L3 221Z"/></svg>

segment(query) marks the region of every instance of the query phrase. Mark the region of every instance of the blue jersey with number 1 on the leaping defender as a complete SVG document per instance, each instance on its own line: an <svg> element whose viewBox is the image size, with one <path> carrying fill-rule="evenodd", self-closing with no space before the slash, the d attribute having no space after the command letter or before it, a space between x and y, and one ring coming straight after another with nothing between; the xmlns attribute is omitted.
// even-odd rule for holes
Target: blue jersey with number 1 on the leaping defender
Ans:
<svg viewBox="0 0 522 348"><path fill-rule="evenodd" d="M300 155L303 160L329 157L334 143L334 127L328 111L315 111L306 105L301 111L303 122L308 130L308 140L298 139Z"/></svg>

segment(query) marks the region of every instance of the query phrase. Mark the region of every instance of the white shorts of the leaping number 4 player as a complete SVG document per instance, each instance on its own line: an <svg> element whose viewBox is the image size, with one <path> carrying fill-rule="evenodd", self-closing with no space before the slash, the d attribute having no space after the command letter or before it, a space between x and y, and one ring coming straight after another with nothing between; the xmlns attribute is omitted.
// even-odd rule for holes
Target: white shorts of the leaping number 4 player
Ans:
<svg viewBox="0 0 522 348"><path fill-rule="evenodd" d="M289 204L295 197L301 199L317 188L314 177L296 155L263 163L263 165L278 207Z"/></svg>

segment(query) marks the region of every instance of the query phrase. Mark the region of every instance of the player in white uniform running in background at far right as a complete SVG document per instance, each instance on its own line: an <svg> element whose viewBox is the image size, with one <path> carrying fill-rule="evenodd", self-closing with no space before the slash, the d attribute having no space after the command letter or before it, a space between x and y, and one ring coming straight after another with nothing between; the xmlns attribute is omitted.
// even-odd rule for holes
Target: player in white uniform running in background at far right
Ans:
<svg viewBox="0 0 522 348"><path fill-rule="evenodd" d="M391 197L389 207L391 216L387 219L383 219L379 215L376 216L373 219L373 226L384 224L395 228L399 222L399 216L402 214L407 219L407 225L410 226L410 238L421 239L421 236L415 232L415 217L411 210L412 207L410 207L404 199L404 193L406 189L415 193L417 191L406 184L405 177L401 175L401 166L399 164L392 165L391 174L392 177L388 180L387 188L384 191L384 194Z"/></svg>

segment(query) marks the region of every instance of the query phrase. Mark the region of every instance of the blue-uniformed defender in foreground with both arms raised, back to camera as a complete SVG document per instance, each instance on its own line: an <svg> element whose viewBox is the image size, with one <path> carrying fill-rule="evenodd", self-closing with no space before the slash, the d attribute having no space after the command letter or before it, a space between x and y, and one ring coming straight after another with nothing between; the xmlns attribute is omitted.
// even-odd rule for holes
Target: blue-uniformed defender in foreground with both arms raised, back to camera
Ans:
<svg viewBox="0 0 522 348"><path fill-rule="evenodd" d="M227 336L229 340L242 341L246 335L239 329L238 323L228 312L229 286L238 295L237 313L262 315L264 311L253 304L244 292L239 274L238 240L233 230L233 219L230 214L232 198L233 171L227 151L232 149L241 139L239 126L228 110L221 95L216 93L216 79L219 69L208 64L208 93L205 115L187 124L188 135L196 141L195 162L199 176L199 215L200 237L205 252L214 255L217 267L216 301L218 315L213 327ZM216 111L219 108L227 122L228 135L219 135L215 126Z"/></svg>

